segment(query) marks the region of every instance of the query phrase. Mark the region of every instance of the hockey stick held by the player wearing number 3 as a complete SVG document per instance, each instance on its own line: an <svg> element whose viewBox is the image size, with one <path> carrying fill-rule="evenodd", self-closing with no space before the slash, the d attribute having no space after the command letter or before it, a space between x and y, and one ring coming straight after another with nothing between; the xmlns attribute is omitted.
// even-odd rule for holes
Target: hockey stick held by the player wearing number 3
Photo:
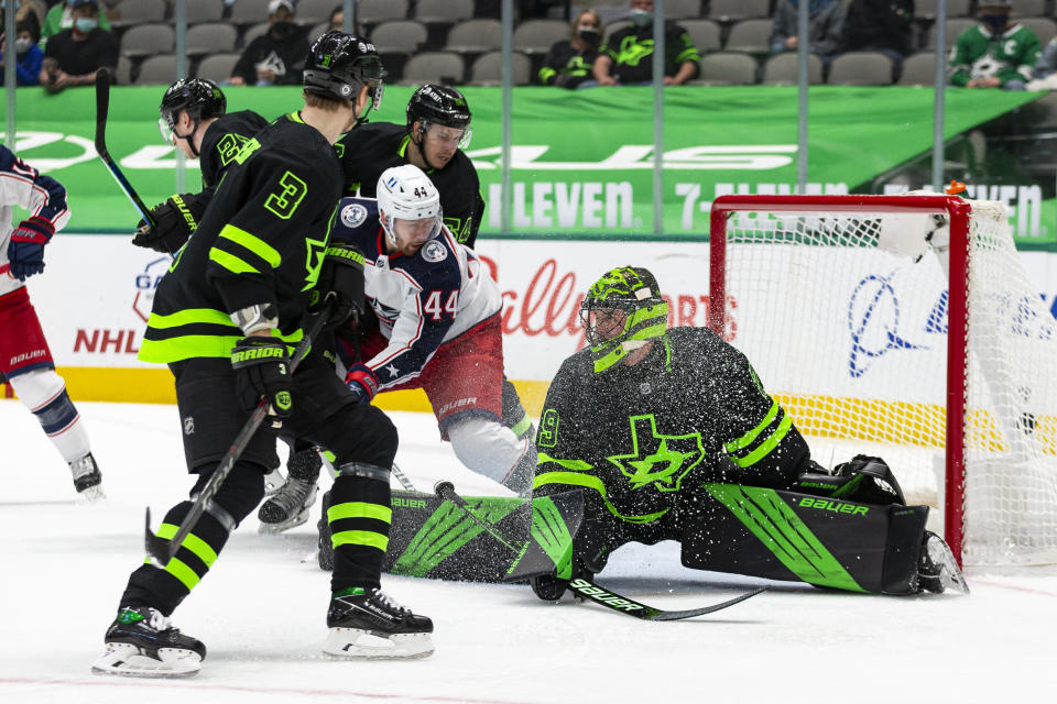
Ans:
<svg viewBox="0 0 1057 704"><path fill-rule="evenodd" d="M297 349L294 350L293 359L290 362L290 374L293 376L294 372L297 371L297 367L301 365L302 359L308 353L309 348L312 346L312 341L319 336L319 332L323 331L324 324L326 324L327 317L330 314L331 306L325 305L323 310L315 316L308 330L305 331L305 337L297 344ZM190 510L187 513L187 516L184 517L184 520L179 524L179 528L176 530L176 534L172 538L160 538L151 530L151 508L146 508L146 554L150 558L151 562L156 566L165 566L168 564L168 561L173 559L173 556L176 554L176 551L179 550L179 547L184 543L184 539L187 538L187 535L190 532L192 528L198 522L198 519L201 518L201 515L206 512L206 504L216 496L217 492L220 491L220 484L224 483L224 480L227 479L228 474L231 473L231 470L235 469L235 463L239 461L239 458L242 455L242 452L246 450L246 447L250 443L253 433L257 432L257 429L261 427L261 424L264 422L264 417L268 415L270 405L268 403L266 396L261 396L261 400L258 402L257 408L253 409L253 413L250 415L250 419L246 421L246 425L242 426L242 429L239 431L239 435L235 437L235 440L231 442L231 447L228 448L227 454L224 455L224 459L220 460L220 464L214 471L213 476L209 477L209 481L206 482L205 487L201 492L195 497L195 503L192 504Z"/></svg>

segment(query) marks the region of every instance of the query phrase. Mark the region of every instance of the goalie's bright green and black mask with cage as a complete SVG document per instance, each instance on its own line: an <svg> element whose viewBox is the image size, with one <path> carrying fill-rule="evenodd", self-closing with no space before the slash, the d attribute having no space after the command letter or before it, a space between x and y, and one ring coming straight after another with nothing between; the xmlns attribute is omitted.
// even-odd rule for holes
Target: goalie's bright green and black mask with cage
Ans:
<svg viewBox="0 0 1057 704"><path fill-rule="evenodd" d="M647 270L621 266L606 272L591 286L580 305L580 323L597 374L662 337L668 324L668 304Z"/></svg>

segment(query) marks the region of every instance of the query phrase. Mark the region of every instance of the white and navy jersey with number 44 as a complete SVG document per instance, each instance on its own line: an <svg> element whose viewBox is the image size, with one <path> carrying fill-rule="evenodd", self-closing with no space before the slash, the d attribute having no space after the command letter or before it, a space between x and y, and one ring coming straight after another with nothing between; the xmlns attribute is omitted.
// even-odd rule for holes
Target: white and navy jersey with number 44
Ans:
<svg viewBox="0 0 1057 704"><path fill-rule="evenodd" d="M356 244L366 260L367 300L389 340L364 362L380 388L418 376L442 343L502 310L488 267L473 250L456 242L446 226L411 256L386 254L378 201L344 198L333 240Z"/></svg>

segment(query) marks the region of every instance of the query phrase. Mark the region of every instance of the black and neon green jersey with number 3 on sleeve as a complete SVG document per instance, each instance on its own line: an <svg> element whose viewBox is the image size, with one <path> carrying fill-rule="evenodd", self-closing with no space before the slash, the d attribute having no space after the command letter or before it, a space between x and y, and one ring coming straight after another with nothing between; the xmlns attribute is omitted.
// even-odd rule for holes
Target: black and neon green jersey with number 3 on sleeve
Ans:
<svg viewBox="0 0 1057 704"><path fill-rule="evenodd" d="M249 140L159 284L139 359L230 356L242 338L230 314L258 304L299 340L340 195L334 147L298 113Z"/></svg>

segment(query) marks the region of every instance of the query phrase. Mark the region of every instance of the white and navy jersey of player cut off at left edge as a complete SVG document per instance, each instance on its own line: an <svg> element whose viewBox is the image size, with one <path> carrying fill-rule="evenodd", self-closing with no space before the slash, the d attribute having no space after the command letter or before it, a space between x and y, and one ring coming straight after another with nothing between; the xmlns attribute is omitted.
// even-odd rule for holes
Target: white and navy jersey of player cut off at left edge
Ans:
<svg viewBox="0 0 1057 704"><path fill-rule="evenodd" d="M23 286L9 272L8 243L15 227L11 221L14 217L12 206L28 210L30 217L47 220L56 232L69 220L63 185L51 176L41 175L0 144L0 296Z"/></svg>

